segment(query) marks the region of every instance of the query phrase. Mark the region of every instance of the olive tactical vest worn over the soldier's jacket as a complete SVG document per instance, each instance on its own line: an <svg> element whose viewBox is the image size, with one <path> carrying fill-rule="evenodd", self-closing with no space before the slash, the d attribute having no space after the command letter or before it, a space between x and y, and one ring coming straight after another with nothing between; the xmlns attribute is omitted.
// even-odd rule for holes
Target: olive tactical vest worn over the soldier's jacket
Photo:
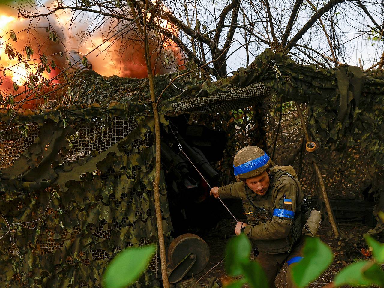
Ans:
<svg viewBox="0 0 384 288"><path fill-rule="evenodd" d="M250 195L254 193L252 190L248 188L245 184L245 195L247 195L247 199L242 199L243 201L243 209L245 211L244 214L247 215L248 223L256 224L257 222L266 223L268 220L271 220L273 215L273 207L275 205L275 200L273 199L273 195L276 189L276 183L278 179L283 175L288 175L291 177L298 187L298 195L301 195L301 187L295 173L289 173L285 169L285 166L275 166L277 168L275 175L272 175L272 179L270 182L270 186L268 188L267 197L261 197L262 199L258 199L253 202L250 199ZM298 195L296 197L298 198ZM303 199L297 199L296 201L302 202ZM278 254L290 252L293 244L298 240L301 235L301 230L303 229L303 225L309 217L310 207L306 205L301 205L296 207L295 216L293 219L292 228L287 237L283 239L276 240L253 240L253 246L257 246L257 248L266 253L266 254ZM304 211L302 211L304 210Z"/></svg>

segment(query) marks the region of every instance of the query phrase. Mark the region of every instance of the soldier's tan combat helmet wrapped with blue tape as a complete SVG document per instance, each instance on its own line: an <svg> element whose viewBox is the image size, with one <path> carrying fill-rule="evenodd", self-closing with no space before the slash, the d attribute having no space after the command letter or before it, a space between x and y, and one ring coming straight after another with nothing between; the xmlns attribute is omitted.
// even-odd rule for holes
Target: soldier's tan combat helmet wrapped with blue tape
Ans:
<svg viewBox="0 0 384 288"><path fill-rule="evenodd" d="M257 146L244 147L233 158L233 172L237 182L257 176L271 166L271 158Z"/></svg>

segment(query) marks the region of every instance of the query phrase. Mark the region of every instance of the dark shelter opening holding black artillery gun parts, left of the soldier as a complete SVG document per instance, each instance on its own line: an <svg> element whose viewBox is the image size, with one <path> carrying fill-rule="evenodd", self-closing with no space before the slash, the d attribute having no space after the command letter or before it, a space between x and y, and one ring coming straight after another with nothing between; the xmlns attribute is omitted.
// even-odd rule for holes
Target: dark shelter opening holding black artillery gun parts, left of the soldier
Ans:
<svg viewBox="0 0 384 288"><path fill-rule="evenodd" d="M190 125L184 115L169 118L169 121L162 130L161 162L174 229L172 236L177 237L212 228L219 219L222 207L209 197L209 185L193 165L211 186L220 185L219 174L211 164L222 159L227 134L203 125ZM204 221L206 218L212 221Z"/></svg>

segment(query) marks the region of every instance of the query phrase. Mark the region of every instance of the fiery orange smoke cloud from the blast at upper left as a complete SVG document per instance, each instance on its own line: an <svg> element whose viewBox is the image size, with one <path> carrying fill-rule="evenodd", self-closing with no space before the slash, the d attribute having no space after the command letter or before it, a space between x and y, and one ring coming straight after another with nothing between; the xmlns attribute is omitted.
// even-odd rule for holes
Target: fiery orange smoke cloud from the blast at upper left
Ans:
<svg viewBox="0 0 384 288"><path fill-rule="evenodd" d="M40 12L44 13L44 11ZM0 75L3 80L0 91L3 96L25 92L26 88L23 84L26 82L26 77L30 72L35 73L36 68L33 67L41 62L40 59L43 55L48 57L49 64L53 61L56 66L55 69L51 69L50 73L44 72L43 76L47 79L54 78L68 67L68 59L73 63L69 51L76 51L81 56L86 55L119 29L121 32L117 36L87 56L88 62L92 64L94 71L104 76L116 74L129 78L147 77L143 41L136 31L135 25L122 28L124 23L106 21L98 29L92 31L92 15L89 13L82 15L83 17L79 17L79 15L62 11L50 15L48 18L19 19L17 10L2 8L0 21L5 25L0 28L0 36L2 36L0 39L0 69L5 71L5 76ZM48 31L47 28L49 28ZM11 31L16 33L17 41L10 39ZM51 31L55 31L55 39L52 38ZM172 40L159 39L159 36L156 37L156 35L150 36L151 65L155 74L175 71L179 65L184 64L180 48ZM23 56L26 56L26 46L33 49L33 55L27 61L31 70L26 69L23 62L19 63L17 59L10 60L8 55L5 55L7 44ZM63 78L58 78L53 82L63 83L65 81ZM19 87L17 91L14 89L14 83ZM44 102L44 99L31 99L36 97L27 94L23 93L15 98L15 101L22 101L28 96L28 99L23 102L22 109L38 109L39 104Z"/></svg>

